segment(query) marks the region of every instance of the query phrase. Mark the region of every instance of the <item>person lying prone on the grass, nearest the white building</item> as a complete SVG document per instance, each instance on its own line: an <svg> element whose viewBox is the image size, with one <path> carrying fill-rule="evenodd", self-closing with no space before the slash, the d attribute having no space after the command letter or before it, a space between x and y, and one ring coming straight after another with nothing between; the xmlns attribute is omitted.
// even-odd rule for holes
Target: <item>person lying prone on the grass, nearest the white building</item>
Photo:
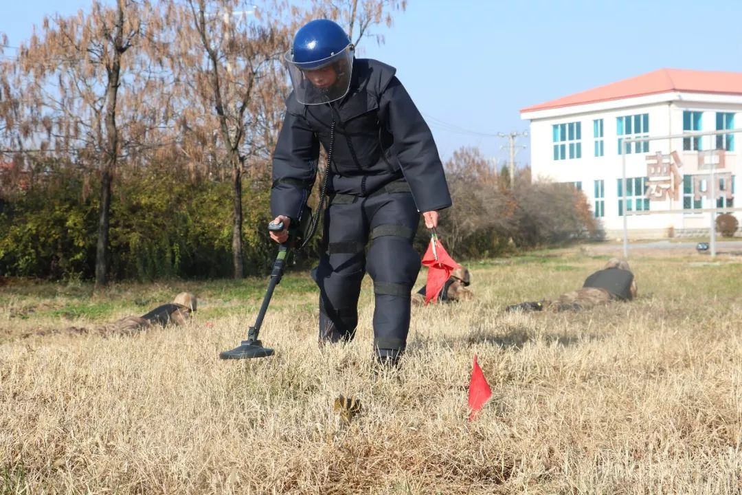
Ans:
<svg viewBox="0 0 742 495"><path fill-rule="evenodd" d="M611 258L603 269L585 279L581 289L566 292L555 299L513 304L505 311L569 311L602 306L612 301L633 301L637 281L626 260Z"/></svg>

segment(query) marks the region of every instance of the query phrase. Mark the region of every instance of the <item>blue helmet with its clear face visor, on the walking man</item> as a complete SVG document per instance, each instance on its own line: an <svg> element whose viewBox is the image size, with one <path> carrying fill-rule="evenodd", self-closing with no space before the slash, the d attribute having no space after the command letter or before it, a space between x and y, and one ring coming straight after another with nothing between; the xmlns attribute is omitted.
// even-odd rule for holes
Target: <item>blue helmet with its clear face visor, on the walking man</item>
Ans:
<svg viewBox="0 0 742 495"><path fill-rule="evenodd" d="M347 33L329 19L316 19L301 27L292 49L284 55L298 102L319 105L345 96L354 52Z"/></svg>

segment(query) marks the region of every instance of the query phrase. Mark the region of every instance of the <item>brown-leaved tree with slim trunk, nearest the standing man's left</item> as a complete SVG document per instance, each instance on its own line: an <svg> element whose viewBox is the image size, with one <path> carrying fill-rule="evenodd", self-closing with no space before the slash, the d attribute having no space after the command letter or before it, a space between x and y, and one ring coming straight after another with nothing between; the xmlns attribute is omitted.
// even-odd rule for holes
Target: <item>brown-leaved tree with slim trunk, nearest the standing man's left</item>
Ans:
<svg viewBox="0 0 742 495"><path fill-rule="evenodd" d="M162 59L177 82L180 149L229 168L234 278L242 278L243 172L267 160L275 139L278 122L266 109L286 93L277 62L289 30L278 6L261 11L241 0L166 0L160 8L171 36Z"/></svg>

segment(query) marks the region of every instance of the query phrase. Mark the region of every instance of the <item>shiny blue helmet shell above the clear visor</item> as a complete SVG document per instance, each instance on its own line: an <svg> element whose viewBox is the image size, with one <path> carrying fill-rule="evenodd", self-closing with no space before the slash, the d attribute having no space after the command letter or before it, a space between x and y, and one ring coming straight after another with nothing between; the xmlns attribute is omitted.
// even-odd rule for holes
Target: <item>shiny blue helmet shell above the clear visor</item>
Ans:
<svg viewBox="0 0 742 495"><path fill-rule="evenodd" d="M318 68L350 45L342 27L329 19L317 19L305 24L294 37L292 62L300 69Z"/></svg>

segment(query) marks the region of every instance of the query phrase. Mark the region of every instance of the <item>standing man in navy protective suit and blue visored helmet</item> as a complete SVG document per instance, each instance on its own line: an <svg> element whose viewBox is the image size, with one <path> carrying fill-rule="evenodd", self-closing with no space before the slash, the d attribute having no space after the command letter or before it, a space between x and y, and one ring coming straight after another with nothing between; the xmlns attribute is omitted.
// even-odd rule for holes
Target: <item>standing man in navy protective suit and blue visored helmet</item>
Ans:
<svg viewBox="0 0 742 495"><path fill-rule="evenodd" d="M300 222L327 154L327 198L318 267L321 343L350 341L358 324L361 280L374 283L375 355L396 365L407 344L410 298L421 266L413 249L420 215L438 225L451 206L433 135L395 68L355 59L347 33L318 19L301 27L286 55L293 91L273 155L271 209L280 232ZM322 212L318 212L321 214Z"/></svg>

